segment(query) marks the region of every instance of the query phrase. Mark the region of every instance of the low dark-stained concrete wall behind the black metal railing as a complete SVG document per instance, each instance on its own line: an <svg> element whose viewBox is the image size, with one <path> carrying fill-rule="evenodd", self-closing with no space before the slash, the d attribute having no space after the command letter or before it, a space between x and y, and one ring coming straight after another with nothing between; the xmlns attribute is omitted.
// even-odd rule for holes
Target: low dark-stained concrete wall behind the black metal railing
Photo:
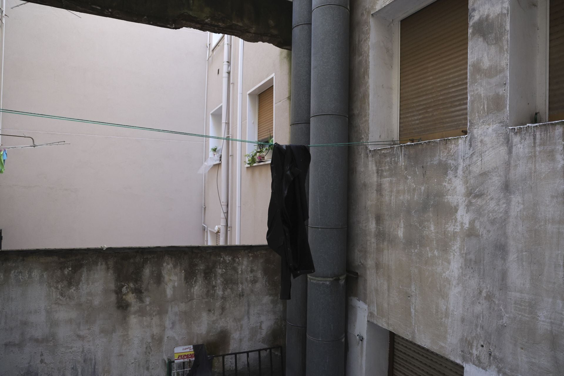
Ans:
<svg viewBox="0 0 564 376"><path fill-rule="evenodd" d="M263 246L2 251L0 374L159 375L175 346L284 343Z"/></svg>

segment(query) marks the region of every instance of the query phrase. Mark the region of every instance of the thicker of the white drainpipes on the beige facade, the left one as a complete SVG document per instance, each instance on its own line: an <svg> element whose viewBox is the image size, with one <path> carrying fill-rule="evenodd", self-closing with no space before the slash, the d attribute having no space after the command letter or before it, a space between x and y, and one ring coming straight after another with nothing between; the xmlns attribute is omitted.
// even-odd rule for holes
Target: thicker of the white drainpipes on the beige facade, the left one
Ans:
<svg viewBox="0 0 564 376"><path fill-rule="evenodd" d="M221 102L221 130L222 135L226 138L230 137L230 129L228 122L228 92L229 92L229 44L231 36L223 37L223 90ZM229 194L229 141L223 140L221 151L221 222L219 232L219 244L227 244L227 216L228 216L228 194Z"/></svg>

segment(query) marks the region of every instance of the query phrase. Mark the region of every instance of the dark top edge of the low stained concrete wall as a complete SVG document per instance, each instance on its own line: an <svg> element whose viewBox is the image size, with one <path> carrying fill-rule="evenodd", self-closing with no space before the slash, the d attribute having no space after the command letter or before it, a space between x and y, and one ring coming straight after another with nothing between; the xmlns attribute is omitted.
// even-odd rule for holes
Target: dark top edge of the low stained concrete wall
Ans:
<svg viewBox="0 0 564 376"><path fill-rule="evenodd" d="M238 252L270 251L267 245L193 245L193 246L149 246L149 247L91 247L91 248L45 248L45 249L3 249L0 256L8 255L51 255L51 254L114 254L114 253L161 253L161 252Z"/></svg>

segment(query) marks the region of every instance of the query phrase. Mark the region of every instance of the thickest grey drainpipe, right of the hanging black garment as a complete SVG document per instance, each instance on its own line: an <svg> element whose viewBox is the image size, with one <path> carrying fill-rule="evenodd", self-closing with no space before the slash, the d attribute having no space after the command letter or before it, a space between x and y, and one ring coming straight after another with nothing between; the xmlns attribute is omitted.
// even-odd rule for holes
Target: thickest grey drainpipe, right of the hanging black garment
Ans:
<svg viewBox="0 0 564 376"><path fill-rule="evenodd" d="M313 0L311 144L348 142L349 0ZM347 147L312 147L307 277L308 376L345 374Z"/></svg>

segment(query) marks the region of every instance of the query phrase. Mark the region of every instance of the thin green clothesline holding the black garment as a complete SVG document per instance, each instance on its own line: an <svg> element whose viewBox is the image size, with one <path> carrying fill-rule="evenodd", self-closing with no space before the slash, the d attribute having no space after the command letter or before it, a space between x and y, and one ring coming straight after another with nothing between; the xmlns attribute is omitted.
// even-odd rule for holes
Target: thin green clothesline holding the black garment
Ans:
<svg viewBox="0 0 564 376"><path fill-rule="evenodd" d="M143 130L143 131L163 132L163 133L171 133L171 134L184 135L184 136L193 136L193 137L227 140L227 141L237 141L237 142L244 142L244 143L249 143L249 144L257 144L257 145L272 145L271 143L261 142L261 141L240 140L240 139L234 139L234 138L230 138L230 137L209 136L209 135L202 135L202 134L190 133L190 132L180 132L180 131L172 131L172 130L167 130L167 129L156 129L156 128L140 127L140 126L135 126L135 125L125 125L125 124L118 124L118 123L108 123L108 122L105 122L105 121L85 120L85 119L78 119L78 118L73 118L73 117L47 115L47 114L17 111L17 110L3 109L3 108L0 108L0 112L16 114L16 115L42 117L42 118L55 119L55 120L66 120L66 121L74 121L74 122L80 122L80 123L107 125L107 126L112 126L112 127L129 128L129 129L138 129L138 130ZM307 145L307 146L309 146L309 147L322 147L322 146L358 146L358 145L396 145L396 144L400 143L401 141L409 141L409 140L360 141L360 142L347 142L347 143L336 143L336 144L314 144L314 145Z"/></svg>

